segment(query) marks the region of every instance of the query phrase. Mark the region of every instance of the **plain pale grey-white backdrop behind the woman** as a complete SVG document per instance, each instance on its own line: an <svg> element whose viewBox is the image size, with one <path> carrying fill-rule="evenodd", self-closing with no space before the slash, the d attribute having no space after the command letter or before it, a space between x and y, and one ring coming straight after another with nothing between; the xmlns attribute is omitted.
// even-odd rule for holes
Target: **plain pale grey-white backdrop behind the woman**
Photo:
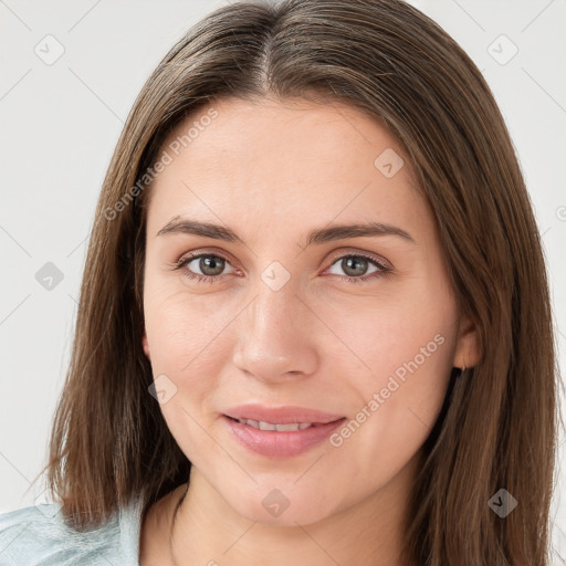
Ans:
<svg viewBox="0 0 566 566"><path fill-rule="evenodd" d="M0 512L43 497L42 482L30 483L44 463L95 203L127 113L169 48L223 3L0 0ZM411 3L462 45L500 104L543 234L564 368L566 1ZM564 436L560 444L554 542L566 564Z"/></svg>

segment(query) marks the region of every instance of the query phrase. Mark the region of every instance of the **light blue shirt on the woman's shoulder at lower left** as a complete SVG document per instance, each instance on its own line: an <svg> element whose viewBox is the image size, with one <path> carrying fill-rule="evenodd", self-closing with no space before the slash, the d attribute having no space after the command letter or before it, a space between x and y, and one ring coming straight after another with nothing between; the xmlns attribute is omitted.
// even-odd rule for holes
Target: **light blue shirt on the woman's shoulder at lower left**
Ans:
<svg viewBox="0 0 566 566"><path fill-rule="evenodd" d="M139 566L143 500L84 533L63 522L59 503L0 514L0 566Z"/></svg>

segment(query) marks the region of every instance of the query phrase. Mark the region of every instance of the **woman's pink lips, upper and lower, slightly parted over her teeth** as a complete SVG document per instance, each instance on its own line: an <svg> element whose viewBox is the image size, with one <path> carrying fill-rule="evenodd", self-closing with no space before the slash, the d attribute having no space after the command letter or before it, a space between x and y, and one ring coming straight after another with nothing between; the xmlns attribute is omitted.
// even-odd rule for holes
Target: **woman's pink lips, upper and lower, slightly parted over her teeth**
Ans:
<svg viewBox="0 0 566 566"><path fill-rule="evenodd" d="M235 440L256 454L270 458L291 458L326 440L346 417L331 415L304 407L268 408L258 405L233 407L222 415ZM303 430L259 430L233 419L263 420L273 423L312 422Z"/></svg>

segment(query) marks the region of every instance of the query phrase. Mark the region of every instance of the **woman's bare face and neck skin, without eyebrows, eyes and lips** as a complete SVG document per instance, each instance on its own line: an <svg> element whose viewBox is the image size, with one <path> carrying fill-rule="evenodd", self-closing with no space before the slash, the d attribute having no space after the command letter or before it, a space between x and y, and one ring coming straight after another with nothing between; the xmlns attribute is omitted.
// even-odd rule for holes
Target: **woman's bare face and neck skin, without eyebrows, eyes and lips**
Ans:
<svg viewBox="0 0 566 566"><path fill-rule="evenodd" d="M154 376L177 387L160 407L192 470L188 492L179 486L147 513L140 564L399 566L422 443L452 366L478 357L432 213L400 144L353 107L304 99L213 107L218 117L150 188L143 344ZM179 125L164 148L205 113ZM405 160L391 178L374 165L387 148ZM230 227L245 244L156 235L177 216ZM297 244L314 228L361 221L398 227L415 242L377 235ZM211 273L199 260L171 268L192 251L228 260L219 260L216 281L187 277ZM379 268L367 262L353 275L340 261L348 253L390 271L371 277ZM290 275L279 291L261 277L274 261ZM366 409L370 417L337 448L325 441L275 460L238 443L221 419L223 409L259 402L349 420L438 335L442 345L378 410ZM273 489L290 502L276 517L262 505Z"/></svg>

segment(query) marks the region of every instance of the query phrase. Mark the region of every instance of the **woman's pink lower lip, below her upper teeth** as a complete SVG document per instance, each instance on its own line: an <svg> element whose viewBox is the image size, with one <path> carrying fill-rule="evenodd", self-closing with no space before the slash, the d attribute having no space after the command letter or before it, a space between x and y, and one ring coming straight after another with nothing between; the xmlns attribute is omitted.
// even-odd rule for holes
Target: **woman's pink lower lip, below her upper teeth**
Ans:
<svg viewBox="0 0 566 566"><path fill-rule="evenodd" d="M272 458L290 458L306 452L308 449L326 440L333 430L346 420L335 420L326 424L308 427L304 430L277 432L276 430L259 430L250 424L242 424L226 415L222 419L232 433L245 448L258 454Z"/></svg>

